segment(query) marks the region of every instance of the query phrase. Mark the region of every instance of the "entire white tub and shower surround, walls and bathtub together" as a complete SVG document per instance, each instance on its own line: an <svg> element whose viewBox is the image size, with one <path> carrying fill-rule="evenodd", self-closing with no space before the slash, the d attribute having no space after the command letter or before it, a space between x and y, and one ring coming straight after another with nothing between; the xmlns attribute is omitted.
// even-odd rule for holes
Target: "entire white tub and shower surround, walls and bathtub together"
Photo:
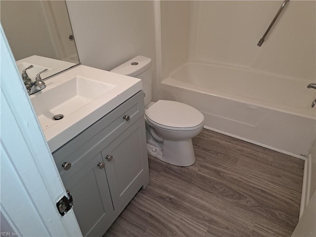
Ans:
<svg viewBox="0 0 316 237"><path fill-rule="evenodd" d="M298 158L315 143L316 2L161 1L159 99L199 109L208 129Z"/></svg>

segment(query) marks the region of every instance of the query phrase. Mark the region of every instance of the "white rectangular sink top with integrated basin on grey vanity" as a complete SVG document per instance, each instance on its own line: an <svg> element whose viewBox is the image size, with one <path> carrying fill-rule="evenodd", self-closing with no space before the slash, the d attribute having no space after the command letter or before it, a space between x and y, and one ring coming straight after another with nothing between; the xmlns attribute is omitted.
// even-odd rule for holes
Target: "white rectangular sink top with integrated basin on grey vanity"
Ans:
<svg viewBox="0 0 316 237"><path fill-rule="evenodd" d="M140 79L82 65L45 83L30 99L51 152L142 89Z"/></svg>

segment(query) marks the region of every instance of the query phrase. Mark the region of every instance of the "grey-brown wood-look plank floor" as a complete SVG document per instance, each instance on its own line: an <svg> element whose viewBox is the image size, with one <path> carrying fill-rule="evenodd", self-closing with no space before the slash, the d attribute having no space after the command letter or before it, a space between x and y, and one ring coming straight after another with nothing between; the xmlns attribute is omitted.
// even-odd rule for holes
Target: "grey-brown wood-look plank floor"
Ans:
<svg viewBox="0 0 316 237"><path fill-rule="evenodd" d="M104 237L290 237L304 161L203 129L196 162L149 156L150 185Z"/></svg>

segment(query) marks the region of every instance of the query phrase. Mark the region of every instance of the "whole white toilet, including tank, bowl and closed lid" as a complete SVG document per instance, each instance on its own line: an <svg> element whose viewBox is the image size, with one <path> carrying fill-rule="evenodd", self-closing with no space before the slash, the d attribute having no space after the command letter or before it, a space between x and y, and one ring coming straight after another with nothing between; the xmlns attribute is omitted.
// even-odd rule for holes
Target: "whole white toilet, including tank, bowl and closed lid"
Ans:
<svg viewBox="0 0 316 237"><path fill-rule="evenodd" d="M204 125L204 116L184 103L152 99L151 59L137 56L111 72L142 79L145 93L147 151L152 156L178 166L189 166L196 161L192 138Z"/></svg>

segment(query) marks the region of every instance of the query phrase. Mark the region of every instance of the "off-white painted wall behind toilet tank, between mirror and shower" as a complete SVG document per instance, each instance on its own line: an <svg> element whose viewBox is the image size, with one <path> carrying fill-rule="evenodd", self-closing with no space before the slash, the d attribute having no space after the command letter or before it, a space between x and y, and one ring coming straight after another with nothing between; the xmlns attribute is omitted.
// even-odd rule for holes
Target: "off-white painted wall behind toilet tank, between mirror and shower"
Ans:
<svg viewBox="0 0 316 237"><path fill-rule="evenodd" d="M156 75L153 1L67 1L67 7L81 64L109 71L143 55Z"/></svg>

